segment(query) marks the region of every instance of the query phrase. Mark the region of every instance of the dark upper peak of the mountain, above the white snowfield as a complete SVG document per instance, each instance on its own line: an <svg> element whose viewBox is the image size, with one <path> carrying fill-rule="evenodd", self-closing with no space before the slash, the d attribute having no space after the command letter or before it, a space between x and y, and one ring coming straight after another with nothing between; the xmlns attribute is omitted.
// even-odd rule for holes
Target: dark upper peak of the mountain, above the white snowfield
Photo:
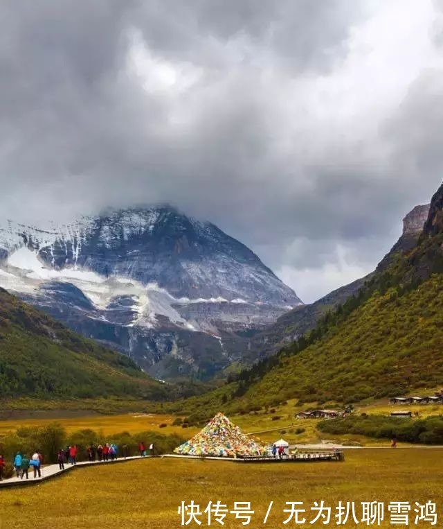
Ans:
<svg viewBox="0 0 443 529"><path fill-rule="evenodd" d="M123 209L71 225L0 227L0 249L32 250L42 266L156 283L177 298L300 304L245 245L172 207Z"/></svg>

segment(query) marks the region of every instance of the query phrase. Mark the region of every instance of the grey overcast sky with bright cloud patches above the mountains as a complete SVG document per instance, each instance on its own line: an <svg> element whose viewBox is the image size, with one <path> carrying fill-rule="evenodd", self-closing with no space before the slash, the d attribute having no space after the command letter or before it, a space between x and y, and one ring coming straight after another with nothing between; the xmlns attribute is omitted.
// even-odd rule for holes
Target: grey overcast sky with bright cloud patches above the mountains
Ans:
<svg viewBox="0 0 443 529"><path fill-rule="evenodd" d="M0 19L3 218L170 202L311 302L442 181L440 0L3 0Z"/></svg>

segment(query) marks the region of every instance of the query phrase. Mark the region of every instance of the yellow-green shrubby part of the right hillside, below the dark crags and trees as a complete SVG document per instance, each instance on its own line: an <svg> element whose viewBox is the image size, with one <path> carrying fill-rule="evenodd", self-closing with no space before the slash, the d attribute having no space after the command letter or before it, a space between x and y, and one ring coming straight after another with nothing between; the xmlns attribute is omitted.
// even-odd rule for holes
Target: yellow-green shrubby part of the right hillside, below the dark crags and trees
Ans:
<svg viewBox="0 0 443 529"><path fill-rule="evenodd" d="M399 295L390 288L324 338L287 353L244 399L356 402L443 383L443 275Z"/></svg>

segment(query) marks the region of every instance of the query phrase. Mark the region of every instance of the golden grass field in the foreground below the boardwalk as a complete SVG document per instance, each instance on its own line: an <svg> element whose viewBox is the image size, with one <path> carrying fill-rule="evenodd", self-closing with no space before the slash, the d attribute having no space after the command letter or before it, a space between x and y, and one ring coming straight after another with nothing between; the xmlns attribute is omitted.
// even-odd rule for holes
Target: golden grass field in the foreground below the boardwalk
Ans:
<svg viewBox="0 0 443 529"><path fill-rule="evenodd" d="M1 491L1 529L156 529L179 528L177 510L181 501L195 503L204 511L209 501L251 502L255 511L249 527L281 528L288 513L287 501L301 501L307 512L304 527L315 516L314 501L332 507L330 524L336 526L338 501L356 502L361 519L361 501L385 503L385 520L390 526L388 503L415 501L437 503L442 514L440 492L443 481L442 449L397 449L347 451L340 462L289 465L242 465L208 460L159 458L138 460L109 467L79 469L38 487ZM269 502L274 505L263 524ZM412 513L410 525L413 525ZM201 518L201 526L207 520ZM226 528L242 527L242 520L228 514ZM293 525L291 521L287 526ZM213 526L219 524L213 521ZM348 520L345 526L354 527ZM428 523L419 522L418 527ZM438 524L437 524L438 526ZM197 527L192 522L188 527Z"/></svg>

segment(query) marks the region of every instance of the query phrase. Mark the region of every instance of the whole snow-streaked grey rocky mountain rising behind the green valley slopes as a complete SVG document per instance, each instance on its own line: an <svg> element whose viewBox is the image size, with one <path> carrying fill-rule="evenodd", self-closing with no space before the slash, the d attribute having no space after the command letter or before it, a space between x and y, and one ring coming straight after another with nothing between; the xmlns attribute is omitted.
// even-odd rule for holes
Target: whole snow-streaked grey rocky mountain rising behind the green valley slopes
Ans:
<svg viewBox="0 0 443 529"><path fill-rule="evenodd" d="M208 379L302 304L242 243L166 206L4 223L0 286L161 379Z"/></svg>

